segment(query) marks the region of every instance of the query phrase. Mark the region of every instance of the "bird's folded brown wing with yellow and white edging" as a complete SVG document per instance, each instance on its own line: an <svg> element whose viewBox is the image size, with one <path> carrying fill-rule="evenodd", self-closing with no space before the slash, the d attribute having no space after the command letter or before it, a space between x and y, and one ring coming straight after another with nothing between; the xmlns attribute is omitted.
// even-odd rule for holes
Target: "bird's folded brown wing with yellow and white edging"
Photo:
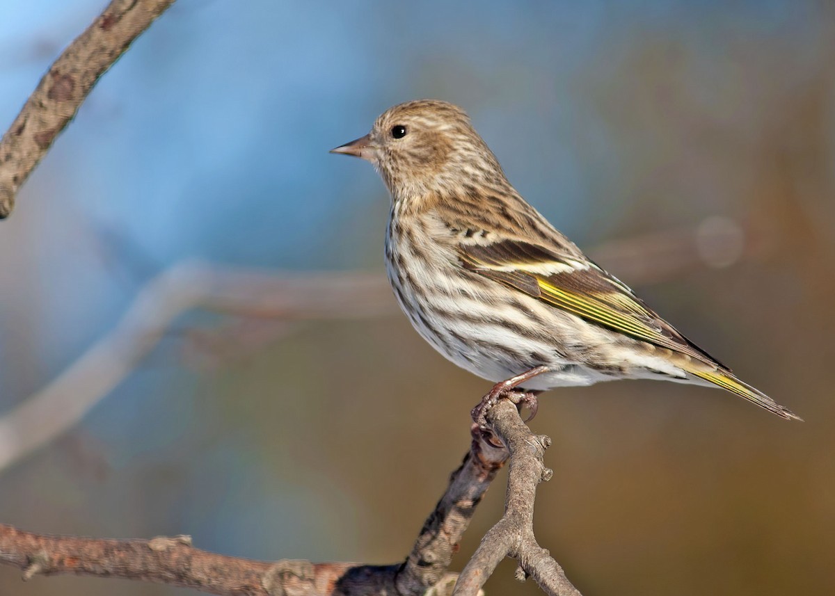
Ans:
<svg viewBox="0 0 835 596"><path fill-rule="evenodd" d="M595 325L729 371L594 262L524 240L458 245L462 265Z"/></svg>

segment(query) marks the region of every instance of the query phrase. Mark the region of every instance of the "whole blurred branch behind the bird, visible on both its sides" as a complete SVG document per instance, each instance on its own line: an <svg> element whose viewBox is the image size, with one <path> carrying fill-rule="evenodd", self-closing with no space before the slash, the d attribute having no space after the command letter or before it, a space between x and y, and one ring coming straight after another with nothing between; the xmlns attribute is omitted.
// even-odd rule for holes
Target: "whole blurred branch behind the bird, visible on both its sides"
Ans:
<svg viewBox="0 0 835 596"><path fill-rule="evenodd" d="M706 265L727 265L756 250L761 249L746 242L741 228L730 220L707 220L696 230L610 242L590 250L590 255L620 279L640 285ZM175 265L144 286L113 331L41 391L0 417L0 473L78 423L128 376L176 317L194 308L279 321L397 312L391 290L380 275L286 275L196 263Z"/></svg>

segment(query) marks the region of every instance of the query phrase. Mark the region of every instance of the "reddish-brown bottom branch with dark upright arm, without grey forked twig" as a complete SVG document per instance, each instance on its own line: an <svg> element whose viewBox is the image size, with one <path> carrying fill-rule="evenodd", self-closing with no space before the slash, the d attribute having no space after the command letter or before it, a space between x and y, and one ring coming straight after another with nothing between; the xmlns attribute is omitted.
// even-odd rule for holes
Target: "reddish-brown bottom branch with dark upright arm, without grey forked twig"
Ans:
<svg viewBox="0 0 835 596"><path fill-rule="evenodd" d="M209 553L188 536L151 540L74 538L28 533L0 524L0 562L23 569L23 579L74 574L138 579L238 596L447 596L456 573L447 568L508 452L482 440L449 478L446 492L403 563L253 561ZM478 592L478 590L476 591Z"/></svg>

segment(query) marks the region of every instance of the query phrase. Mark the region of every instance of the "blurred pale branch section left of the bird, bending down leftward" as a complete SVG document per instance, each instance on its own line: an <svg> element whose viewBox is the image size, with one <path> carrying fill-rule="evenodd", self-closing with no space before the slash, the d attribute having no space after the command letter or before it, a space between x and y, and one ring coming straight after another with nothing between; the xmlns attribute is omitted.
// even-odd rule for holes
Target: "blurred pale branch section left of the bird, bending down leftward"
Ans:
<svg viewBox="0 0 835 596"><path fill-rule="evenodd" d="M193 308L300 320L380 316L397 307L377 275L172 267L144 286L113 331L0 417L0 471L73 427L128 376L177 316Z"/></svg>

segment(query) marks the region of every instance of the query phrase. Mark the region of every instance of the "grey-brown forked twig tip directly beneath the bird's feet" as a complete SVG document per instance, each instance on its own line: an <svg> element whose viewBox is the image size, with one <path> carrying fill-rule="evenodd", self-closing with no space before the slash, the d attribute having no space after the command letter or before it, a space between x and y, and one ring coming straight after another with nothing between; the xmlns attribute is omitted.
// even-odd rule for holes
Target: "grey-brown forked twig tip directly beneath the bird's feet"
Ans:
<svg viewBox="0 0 835 596"><path fill-rule="evenodd" d="M517 578L534 578L549 596L580 596L563 569L534 537L536 487L553 475L543 463L551 440L530 432L509 400L501 400L490 408L486 418L490 429L510 452L504 516L482 538L461 572L453 596L475 596L506 556L519 561Z"/></svg>

